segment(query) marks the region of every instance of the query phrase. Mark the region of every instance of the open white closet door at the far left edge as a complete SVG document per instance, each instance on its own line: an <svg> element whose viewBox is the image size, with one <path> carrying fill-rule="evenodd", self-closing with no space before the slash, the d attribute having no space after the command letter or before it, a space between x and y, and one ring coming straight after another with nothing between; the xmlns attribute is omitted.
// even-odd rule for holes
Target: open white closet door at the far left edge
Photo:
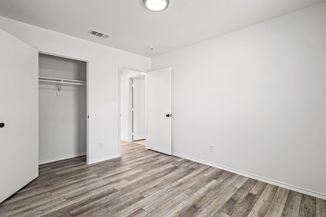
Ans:
<svg viewBox="0 0 326 217"><path fill-rule="evenodd" d="M38 176L38 51L0 29L0 202Z"/></svg>

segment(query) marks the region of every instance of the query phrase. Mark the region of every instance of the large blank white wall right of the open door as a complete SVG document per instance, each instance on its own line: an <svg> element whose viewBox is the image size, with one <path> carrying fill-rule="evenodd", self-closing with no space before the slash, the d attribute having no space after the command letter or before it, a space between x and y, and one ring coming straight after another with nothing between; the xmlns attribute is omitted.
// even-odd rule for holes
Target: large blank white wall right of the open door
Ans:
<svg viewBox="0 0 326 217"><path fill-rule="evenodd" d="M153 58L172 67L173 153L325 199L325 11Z"/></svg>

